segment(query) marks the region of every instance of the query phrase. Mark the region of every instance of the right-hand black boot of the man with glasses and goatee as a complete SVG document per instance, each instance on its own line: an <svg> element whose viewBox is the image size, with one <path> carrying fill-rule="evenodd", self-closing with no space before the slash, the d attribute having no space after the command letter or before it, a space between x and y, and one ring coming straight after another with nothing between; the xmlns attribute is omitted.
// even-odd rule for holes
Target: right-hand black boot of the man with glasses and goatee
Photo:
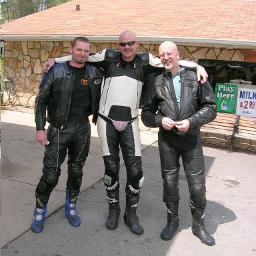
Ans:
<svg viewBox="0 0 256 256"><path fill-rule="evenodd" d="M192 223L192 233L197 236L202 243L205 243L205 245L212 246L215 245L215 239L206 231L205 229L205 223L204 223L204 217L205 217L205 209L197 209L192 210L192 217L193 217L193 223Z"/></svg>

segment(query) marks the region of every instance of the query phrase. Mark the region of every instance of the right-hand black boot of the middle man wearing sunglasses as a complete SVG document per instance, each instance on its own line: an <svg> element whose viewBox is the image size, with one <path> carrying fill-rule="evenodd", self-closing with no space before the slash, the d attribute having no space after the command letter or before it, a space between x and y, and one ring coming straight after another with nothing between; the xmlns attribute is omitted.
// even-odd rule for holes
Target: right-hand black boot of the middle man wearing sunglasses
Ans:
<svg viewBox="0 0 256 256"><path fill-rule="evenodd" d="M144 229L139 225L139 219L136 215L137 207L139 206L139 195L126 195L125 215L123 219L135 235L141 235Z"/></svg>

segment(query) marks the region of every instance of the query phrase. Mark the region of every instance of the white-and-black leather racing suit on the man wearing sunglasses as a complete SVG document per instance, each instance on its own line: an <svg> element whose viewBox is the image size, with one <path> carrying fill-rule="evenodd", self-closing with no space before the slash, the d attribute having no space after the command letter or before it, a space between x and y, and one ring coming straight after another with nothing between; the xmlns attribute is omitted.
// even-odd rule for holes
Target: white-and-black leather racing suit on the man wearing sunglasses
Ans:
<svg viewBox="0 0 256 256"><path fill-rule="evenodd" d="M55 58L67 61L68 56ZM97 128L105 164L104 183L109 202L117 200L119 191L119 146L127 169L126 194L139 196L143 183L141 139L137 119L143 81L149 73L162 71L159 58L139 53L133 61L124 61L120 51L104 49L91 55L88 62L105 70L101 87ZM197 64L182 61L183 65Z"/></svg>

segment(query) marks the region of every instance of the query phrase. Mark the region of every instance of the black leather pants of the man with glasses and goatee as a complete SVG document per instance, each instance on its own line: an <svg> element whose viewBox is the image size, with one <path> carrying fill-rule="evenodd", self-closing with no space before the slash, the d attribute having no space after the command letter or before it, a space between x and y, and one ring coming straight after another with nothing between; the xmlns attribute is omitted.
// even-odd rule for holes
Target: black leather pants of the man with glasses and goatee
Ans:
<svg viewBox="0 0 256 256"><path fill-rule="evenodd" d="M175 135L167 138L159 132L159 153L163 178L163 201L179 201L179 158L181 157L189 186L191 209L203 209L205 199L205 163L199 135Z"/></svg>

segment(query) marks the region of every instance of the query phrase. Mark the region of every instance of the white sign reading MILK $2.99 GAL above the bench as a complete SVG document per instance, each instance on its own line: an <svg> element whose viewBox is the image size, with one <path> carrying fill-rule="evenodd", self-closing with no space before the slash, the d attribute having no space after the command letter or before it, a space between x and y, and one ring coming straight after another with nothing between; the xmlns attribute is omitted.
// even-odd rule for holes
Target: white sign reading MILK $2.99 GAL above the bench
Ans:
<svg viewBox="0 0 256 256"><path fill-rule="evenodd" d="M256 117L256 87L241 85L237 92L237 115Z"/></svg>

